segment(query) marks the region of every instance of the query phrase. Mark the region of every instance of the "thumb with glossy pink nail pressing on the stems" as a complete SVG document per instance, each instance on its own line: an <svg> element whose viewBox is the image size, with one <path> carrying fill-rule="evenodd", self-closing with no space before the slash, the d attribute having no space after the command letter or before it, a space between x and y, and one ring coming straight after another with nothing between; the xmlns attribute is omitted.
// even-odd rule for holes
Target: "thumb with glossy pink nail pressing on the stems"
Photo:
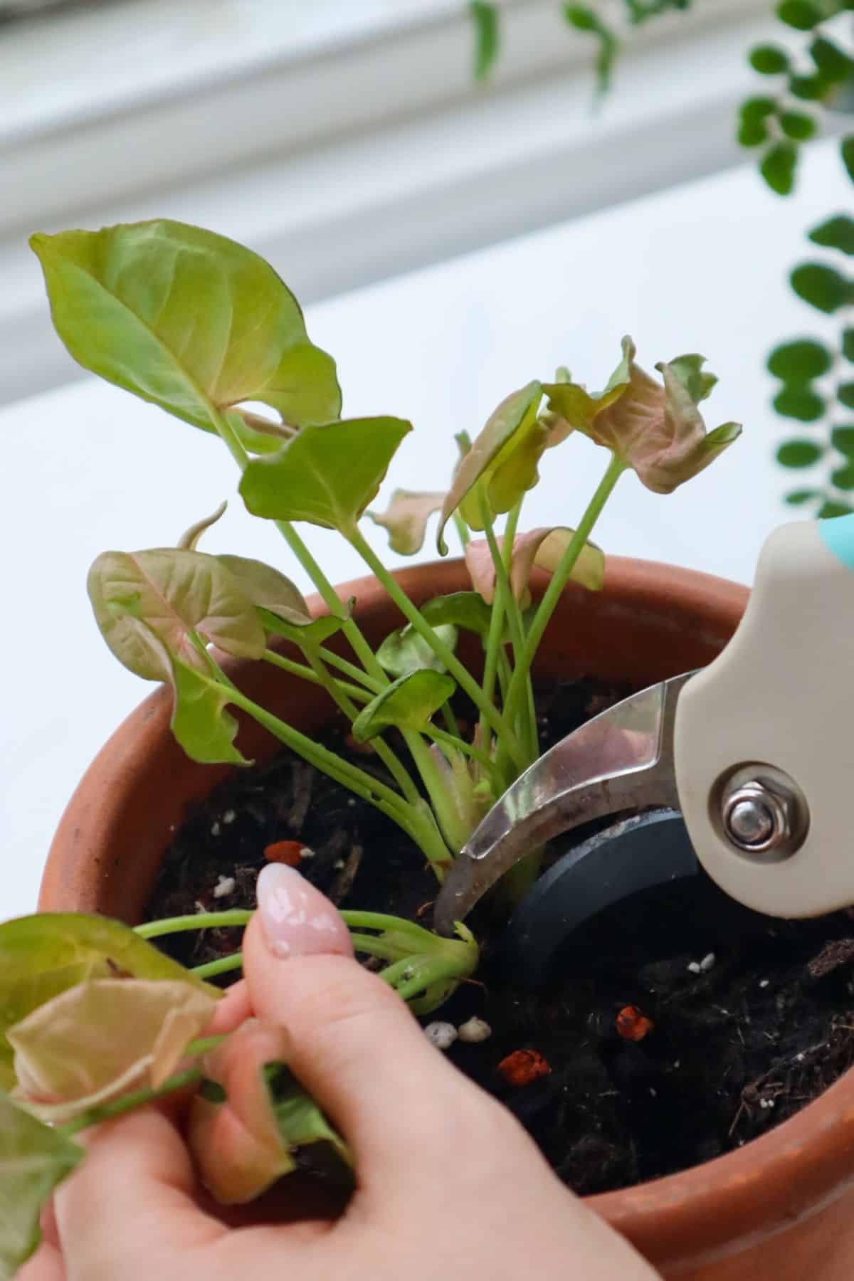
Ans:
<svg viewBox="0 0 854 1281"><path fill-rule="evenodd" d="M288 1063L353 1149L360 1186L398 1185L414 1150L421 1168L444 1164L457 1122L497 1106L356 963L341 916L294 869L265 867L257 897L243 942L252 1009L286 1029Z"/></svg>

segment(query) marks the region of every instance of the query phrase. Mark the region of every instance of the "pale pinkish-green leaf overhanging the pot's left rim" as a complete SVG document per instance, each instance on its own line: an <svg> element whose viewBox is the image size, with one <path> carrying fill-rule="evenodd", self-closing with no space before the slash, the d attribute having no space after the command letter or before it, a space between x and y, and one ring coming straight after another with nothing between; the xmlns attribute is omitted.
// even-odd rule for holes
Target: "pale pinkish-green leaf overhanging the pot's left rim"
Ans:
<svg viewBox="0 0 854 1281"><path fill-rule="evenodd" d="M237 657L264 653L252 602L216 556L174 547L102 552L87 585L101 635L146 680L172 679L165 655L206 670L193 633Z"/></svg>

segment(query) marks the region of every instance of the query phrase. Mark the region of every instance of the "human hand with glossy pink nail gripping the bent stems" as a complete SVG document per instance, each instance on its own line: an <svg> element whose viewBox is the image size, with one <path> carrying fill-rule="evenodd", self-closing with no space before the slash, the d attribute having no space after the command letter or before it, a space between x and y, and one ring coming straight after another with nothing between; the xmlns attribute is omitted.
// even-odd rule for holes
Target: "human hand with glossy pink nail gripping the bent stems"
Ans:
<svg viewBox="0 0 854 1281"><path fill-rule="evenodd" d="M511 1113L355 963L341 917L298 872L262 871L243 956L246 981L222 1002L218 1026L254 1021L225 1043L228 1103L216 1130L196 1136L197 1164L251 1125L248 1082L284 1058L355 1154L343 1213L228 1226L198 1186L177 1118L146 1108L91 1135L20 1281L654 1281Z"/></svg>

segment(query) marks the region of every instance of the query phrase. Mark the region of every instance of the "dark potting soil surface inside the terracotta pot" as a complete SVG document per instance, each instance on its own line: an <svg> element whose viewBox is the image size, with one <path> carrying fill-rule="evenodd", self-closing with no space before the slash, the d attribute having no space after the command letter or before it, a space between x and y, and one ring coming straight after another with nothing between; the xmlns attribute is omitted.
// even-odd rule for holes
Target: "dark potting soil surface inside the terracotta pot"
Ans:
<svg viewBox="0 0 854 1281"><path fill-rule="evenodd" d="M542 742L551 746L627 692L593 680L538 692ZM347 746L342 728L332 725L324 742L382 775L373 756ZM236 771L188 810L149 917L254 907L264 849L287 839L314 852L301 871L335 902L430 922L435 879L420 852L289 752ZM588 922L534 994L490 980L495 926L483 917L470 924L484 983L461 986L431 1018L487 1020L489 1039L456 1041L449 1057L516 1113L579 1193L740 1146L854 1063L854 918L845 912L816 921L759 916L699 875ZM209 930L163 944L200 965L234 951L239 934ZM643 1020L652 1024L643 1039L627 1039ZM510 1086L498 1065L525 1049L551 1071Z"/></svg>

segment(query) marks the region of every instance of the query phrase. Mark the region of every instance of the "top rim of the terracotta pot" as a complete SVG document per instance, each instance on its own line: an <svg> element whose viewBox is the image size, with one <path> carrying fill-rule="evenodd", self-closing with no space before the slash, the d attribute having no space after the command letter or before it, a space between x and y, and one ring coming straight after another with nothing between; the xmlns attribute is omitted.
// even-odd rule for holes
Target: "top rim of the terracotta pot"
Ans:
<svg viewBox="0 0 854 1281"><path fill-rule="evenodd" d="M604 596L667 617L675 602L707 616L711 632L731 630L749 592L726 579L656 561L609 556ZM407 566L394 576L414 600L460 589L463 562L446 560ZM544 575L540 580L545 582ZM429 584L425 588L425 584ZM360 578L335 588L342 600L365 598L376 591L374 578ZM314 614L326 612L319 597ZM228 665L227 665L228 666ZM119 725L83 775L60 820L42 877L41 911L63 906L68 862L76 854L81 829L90 845L105 847L113 811L113 789L133 776L134 762L154 751L168 721L164 688L150 694ZM95 794L104 812L88 797ZM106 798L106 804L104 801ZM113 801L113 807L118 801ZM100 844L99 844L100 834ZM796 1116L745 1144L700 1166L675 1175L586 1198L586 1204L631 1240L658 1267L698 1266L740 1253L754 1241L810 1217L854 1184L854 1070L846 1072Z"/></svg>

